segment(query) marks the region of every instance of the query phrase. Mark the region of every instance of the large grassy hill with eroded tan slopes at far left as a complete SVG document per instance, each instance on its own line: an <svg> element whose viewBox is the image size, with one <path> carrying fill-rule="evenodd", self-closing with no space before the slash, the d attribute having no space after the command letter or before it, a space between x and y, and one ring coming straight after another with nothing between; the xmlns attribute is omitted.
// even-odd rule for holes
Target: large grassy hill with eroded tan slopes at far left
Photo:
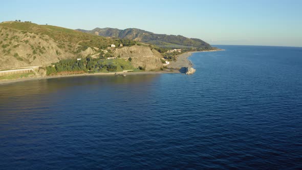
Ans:
<svg viewBox="0 0 302 170"><path fill-rule="evenodd" d="M116 39L30 22L0 23L0 69L45 66L61 59L85 57Z"/></svg>

